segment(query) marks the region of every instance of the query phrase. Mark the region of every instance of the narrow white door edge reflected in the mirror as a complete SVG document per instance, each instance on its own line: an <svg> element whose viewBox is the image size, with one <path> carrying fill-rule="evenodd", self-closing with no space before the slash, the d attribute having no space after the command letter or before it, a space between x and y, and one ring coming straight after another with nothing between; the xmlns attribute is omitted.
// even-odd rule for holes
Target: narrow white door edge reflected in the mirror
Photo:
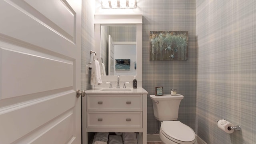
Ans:
<svg viewBox="0 0 256 144"><path fill-rule="evenodd" d="M108 35L108 75L114 75L114 68L115 68L115 45L112 40L111 35Z"/></svg>

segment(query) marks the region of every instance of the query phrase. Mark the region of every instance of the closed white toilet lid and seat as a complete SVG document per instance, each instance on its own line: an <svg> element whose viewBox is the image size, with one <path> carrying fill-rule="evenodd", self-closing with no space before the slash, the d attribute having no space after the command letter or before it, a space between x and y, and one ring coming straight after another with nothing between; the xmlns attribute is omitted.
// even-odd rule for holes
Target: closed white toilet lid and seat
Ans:
<svg viewBox="0 0 256 144"><path fill-rule="evenodd" d="M194 144L196 142L194 130L180 121L163 121L160 132L169 140L179 144Z"/></svg>

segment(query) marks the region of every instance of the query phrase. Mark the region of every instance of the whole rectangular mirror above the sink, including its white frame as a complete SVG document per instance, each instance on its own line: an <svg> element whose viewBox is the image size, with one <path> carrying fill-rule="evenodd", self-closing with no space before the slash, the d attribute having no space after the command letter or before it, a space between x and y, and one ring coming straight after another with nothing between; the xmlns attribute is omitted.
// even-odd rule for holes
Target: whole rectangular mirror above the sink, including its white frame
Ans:
<svg viewBox="0 0 256 144"><path fill-rule="evenodd" d="M96 14L94 51L105 65L102 82L116 82L117 75L132 82L136 76L142 87L142 14Z"/></svg>

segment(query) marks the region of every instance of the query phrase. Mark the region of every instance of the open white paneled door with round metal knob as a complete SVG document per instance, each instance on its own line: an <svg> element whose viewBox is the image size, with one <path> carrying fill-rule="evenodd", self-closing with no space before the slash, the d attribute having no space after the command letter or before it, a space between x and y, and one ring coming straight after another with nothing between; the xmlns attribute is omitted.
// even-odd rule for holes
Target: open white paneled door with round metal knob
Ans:
<svg viewBox="0 0 256 144"><path fill-rule="evenodd" d="M0 1L0 144L80 144L81 0Z"/></svg>

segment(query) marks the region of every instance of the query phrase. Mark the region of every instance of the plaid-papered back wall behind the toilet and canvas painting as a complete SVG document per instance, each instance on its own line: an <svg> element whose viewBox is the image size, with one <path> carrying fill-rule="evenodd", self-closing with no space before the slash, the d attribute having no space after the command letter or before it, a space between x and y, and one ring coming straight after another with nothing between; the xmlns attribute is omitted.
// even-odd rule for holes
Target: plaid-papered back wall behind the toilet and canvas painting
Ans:
<svg viewBox="0 0 256 144"><path fill-rule="evenodd" d="M164 94L176 88L184 95L179 118L195 130L196 110L196 6L194 0L144 0L138 2L143 14L143 88L154 94L156 86ZM150 61L150 31L188 31L188 60ZM148 96L148 133L158 130L152 101Z"/></svg>

